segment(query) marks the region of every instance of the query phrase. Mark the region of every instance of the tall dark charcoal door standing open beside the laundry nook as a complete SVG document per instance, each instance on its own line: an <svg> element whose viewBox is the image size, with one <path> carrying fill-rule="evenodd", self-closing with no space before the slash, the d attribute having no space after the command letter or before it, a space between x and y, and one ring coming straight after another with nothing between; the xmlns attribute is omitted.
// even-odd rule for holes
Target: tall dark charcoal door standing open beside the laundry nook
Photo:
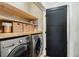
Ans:
<svg viewBox="0 0 79 59"><path fill-rule="evenodd" d="M67 6L46 10L46 53L51 57L67 56Z"/></svg>

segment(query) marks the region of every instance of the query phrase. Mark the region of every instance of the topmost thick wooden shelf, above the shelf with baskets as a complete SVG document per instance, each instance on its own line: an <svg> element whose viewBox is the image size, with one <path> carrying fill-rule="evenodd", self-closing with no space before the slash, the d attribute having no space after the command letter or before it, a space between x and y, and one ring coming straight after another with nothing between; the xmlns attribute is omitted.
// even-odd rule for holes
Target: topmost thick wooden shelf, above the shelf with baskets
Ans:
<svg viewBox="0 0 79 59"><path fill-rule="evenodd" d="M14 6L11 6L7 3L1 2L0 3L0 11L7 12L11 15L19 16L28 20L36 20L37 18L32 16L29 13L26 13L25 11L22 11Z"/></svg>

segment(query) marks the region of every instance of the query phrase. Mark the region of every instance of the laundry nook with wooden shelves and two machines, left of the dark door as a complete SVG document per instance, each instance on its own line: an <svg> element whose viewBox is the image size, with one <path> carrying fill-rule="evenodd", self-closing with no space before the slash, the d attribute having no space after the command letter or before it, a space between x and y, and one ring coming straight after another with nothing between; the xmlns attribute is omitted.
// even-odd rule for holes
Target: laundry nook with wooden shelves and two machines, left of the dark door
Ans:
<svg viewBox="0 0 79 59"><path fill-rule="evenodd" d="M0 2L0 56L44 56L40 2Z"/></svg>

